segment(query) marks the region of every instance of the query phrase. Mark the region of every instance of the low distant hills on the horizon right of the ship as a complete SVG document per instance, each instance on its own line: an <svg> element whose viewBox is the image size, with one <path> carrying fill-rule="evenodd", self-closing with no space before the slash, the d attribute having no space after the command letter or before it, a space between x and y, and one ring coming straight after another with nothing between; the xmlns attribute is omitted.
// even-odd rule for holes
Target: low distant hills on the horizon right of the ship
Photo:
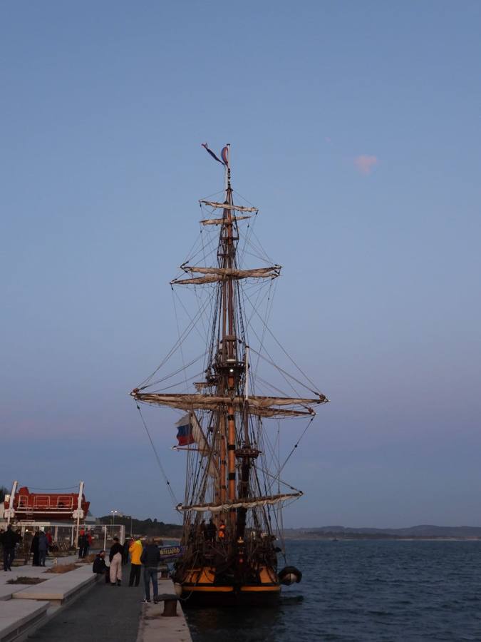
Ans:
<svg viewBox="0 0 481 642"><path fill-rule="evenodd" d="M320 526L309 529L284 529L287 539L481 539L481 526L434 526L421 524L405 529L356 529L346 526Z"/></svg>

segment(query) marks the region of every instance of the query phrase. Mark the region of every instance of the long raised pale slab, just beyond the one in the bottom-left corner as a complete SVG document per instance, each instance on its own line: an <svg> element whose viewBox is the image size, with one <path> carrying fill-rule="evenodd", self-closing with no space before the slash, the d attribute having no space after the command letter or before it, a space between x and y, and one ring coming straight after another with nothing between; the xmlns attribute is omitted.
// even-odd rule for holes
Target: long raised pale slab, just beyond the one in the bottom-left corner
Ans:
<svg viewBox="0 0 481 642"><path fill-rule="evenodd" d="M79 591L95 584L97 576L92 573L90 564L65 574L48 574L47 581L15 591L15 600L48 600L63 604L76 596Z"/></svg>

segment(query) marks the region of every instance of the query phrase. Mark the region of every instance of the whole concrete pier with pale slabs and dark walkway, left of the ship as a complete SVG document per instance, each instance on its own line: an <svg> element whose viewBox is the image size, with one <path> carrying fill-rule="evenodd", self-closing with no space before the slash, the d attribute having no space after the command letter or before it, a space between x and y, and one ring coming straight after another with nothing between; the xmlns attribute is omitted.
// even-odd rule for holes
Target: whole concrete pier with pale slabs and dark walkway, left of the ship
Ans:
<svg viewBox="0 0 481 642"><path fill-rule="evenodd" d="M75 558L63 563L77 561ZM60 563L60 562L59 562ZM51 566L51 564L50 564ZM192 642L180 603L177 616L162 617L163 602L145 604L143 581L128 586L105 584L86 564L65 574L38 566L19 566L0 574L0 642ZM38 577L35 585L6 584L17 577ZM170 579L159 578L159 593L175 593Z"/></svg>

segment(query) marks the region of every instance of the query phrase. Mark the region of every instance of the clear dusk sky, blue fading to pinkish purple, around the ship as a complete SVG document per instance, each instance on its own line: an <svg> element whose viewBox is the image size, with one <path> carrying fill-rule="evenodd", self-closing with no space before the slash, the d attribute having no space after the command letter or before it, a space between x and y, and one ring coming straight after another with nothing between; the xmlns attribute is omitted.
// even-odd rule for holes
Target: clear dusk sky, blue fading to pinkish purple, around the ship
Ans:
<svg viewBox="0 0 481 642"><path fill-rule="evenodd" d="M284 524L481 526L480 28L470 0L3 3L0 484L177 521L128 392L222 189L200 143L231 143L271 329L331 399Z"/></svg>

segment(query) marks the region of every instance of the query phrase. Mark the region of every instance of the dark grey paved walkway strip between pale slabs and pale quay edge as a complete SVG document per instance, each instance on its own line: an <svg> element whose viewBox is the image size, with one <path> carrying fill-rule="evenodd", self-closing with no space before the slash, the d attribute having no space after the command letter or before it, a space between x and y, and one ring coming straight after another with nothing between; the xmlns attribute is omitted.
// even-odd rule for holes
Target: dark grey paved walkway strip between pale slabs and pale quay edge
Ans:
<svg viewBox="0 0 481 642"><path fill-rule="evenodd" d="M143 581L128 586L130 565L123 566L123 585L99 581L71 606L29 636L29 640L68 642L135 642L138 633Z"/></svg>

